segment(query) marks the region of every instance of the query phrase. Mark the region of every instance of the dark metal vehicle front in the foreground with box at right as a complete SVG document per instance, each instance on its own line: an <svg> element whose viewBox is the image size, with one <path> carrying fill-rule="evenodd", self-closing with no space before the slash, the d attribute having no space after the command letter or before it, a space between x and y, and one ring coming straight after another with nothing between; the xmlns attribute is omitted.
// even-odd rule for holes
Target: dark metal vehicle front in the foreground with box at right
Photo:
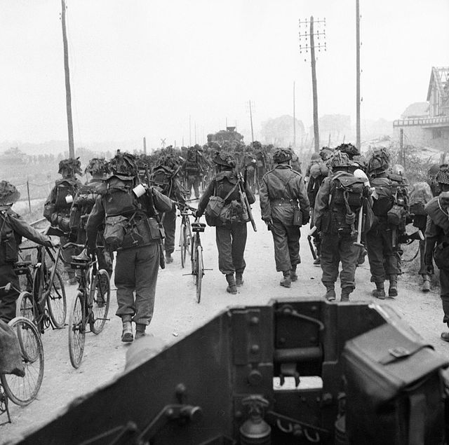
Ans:
<svg viewBox="0 0 449 445"><path fill-rule="evenodd" d="M388 306L278 299L135 342L123 374L20 443L439 444L447 366Z"/></svg>

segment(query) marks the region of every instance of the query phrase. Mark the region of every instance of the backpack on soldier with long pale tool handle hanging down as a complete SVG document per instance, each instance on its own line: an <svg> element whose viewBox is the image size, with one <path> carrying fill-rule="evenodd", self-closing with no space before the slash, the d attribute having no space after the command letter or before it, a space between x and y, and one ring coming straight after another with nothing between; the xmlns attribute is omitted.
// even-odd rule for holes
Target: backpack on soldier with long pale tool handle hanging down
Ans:
<svg viewBox="0 0 449 445"><path fill-rule="evenodd" d="M349 172L337 172L331 179L331 202L338 207L348 204L353 212L357 212L363 204L363 179Z"/></svg>

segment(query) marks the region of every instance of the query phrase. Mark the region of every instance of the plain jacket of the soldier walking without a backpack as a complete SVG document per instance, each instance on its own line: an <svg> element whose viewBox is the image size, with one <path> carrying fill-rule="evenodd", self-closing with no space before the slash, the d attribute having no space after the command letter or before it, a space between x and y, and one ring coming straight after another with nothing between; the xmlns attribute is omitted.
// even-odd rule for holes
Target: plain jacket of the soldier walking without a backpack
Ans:
<svg viewBox="0 0 449 445"><path fill-rule="evenodd" d="M305 224L309 220L310 203L300 172L290 165L280 164L264 174L260 186L260 209L264 221L277 219L291 225L298 203L302 223Z"/></svg>

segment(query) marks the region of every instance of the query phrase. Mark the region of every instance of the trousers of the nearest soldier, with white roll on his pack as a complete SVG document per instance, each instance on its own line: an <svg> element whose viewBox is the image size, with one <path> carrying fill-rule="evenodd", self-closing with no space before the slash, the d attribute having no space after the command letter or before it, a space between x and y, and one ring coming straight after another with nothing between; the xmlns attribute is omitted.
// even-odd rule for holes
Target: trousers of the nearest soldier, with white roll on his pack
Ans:
<svg viewBox="0 0 449 445"><path fill-rule="evenodd" d="M116 315L131 315L133 322L149 324L153 317L156 282L159 273L159 251L154 244L117 252L115 285Z"/></svg>

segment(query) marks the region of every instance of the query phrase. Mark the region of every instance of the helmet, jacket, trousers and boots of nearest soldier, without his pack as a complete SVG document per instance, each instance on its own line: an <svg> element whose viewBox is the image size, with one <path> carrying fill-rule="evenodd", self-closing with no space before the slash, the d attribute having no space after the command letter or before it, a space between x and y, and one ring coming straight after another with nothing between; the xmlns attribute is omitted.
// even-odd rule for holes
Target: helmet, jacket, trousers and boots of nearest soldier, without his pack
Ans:
<svg viewBox="0 0 449 445"><path fill-rule="evenodd" d="M130 161L133 160L130 155L128 157ZM119 169L119 167L115 168ZM137 168L131 169L134 176L128 175L128 177L122 175L123 170L126 169L120 168L119 172L114 171L114 176L108 180L109 186L123 187L129 183L133 184L137 178ZM124 173L126 174L126 171ZM156 189L150 189L143 196L135 199L133 210L121 213L121 216L133 219L133 228L126 233L123 245L117 251L114 271L118 303L116 315L123 321L122 341L133 341L131 319L137 324L136 329L142 335L153 316L161 236L150 205L149 193L153 193L154 207L159 212L168 212L173 204ZM98 229L109 212L107 197L108 195L98 196L88 217L86 231L88 247L91 250L95 249ZM136 338L138 338L137 333Z"/></svg>

